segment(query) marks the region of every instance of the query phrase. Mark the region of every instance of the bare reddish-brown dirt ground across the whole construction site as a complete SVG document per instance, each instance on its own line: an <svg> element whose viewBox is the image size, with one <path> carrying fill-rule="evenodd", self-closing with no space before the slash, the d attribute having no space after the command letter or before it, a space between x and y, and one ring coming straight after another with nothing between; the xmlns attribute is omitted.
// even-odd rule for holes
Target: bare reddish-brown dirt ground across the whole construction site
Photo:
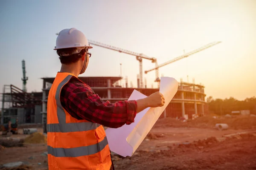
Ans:
<svg viewBox="0 0 256 170"><path fill-rule="evenodd" d="M229 129L217 130L215 123L227 123ZM42 128L38 131L42 132ZM27 136L18 134L10 138ZM3 138L6 137L0 137ZM23 161L29 166L23 170L47 170L45 152L46 143L0 147L0 164ZM256 169L256 117L208 116L188 122L159 119L133 156L112 157L116 170Z"/></svg>

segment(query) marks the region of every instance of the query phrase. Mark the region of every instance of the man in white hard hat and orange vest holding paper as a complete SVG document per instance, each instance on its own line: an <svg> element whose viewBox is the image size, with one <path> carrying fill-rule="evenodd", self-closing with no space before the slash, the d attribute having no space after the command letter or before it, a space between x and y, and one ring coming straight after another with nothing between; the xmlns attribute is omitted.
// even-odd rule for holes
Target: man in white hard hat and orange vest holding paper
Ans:
<svg viewBox="0 0 256 170"><path fill-rule="evenodd" d="M76 28L58 34L54 50L61 61L61 71L55 77L47 103L49 170L113 169L102 125L129 125L140 111L165 103L159 92L137 101L103 102L78 78L88 66L90 48L84 34Z"/></svg>

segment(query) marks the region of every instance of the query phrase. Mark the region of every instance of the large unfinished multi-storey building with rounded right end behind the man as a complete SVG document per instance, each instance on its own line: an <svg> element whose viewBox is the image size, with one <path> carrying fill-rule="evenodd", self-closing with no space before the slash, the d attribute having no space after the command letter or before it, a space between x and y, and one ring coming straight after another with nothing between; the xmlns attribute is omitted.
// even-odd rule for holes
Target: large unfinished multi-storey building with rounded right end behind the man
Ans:
<svg viewBox="0 0 256 170"><path fill-rule="evenodd" d="M49 89L54 81L54 78L43 79L43 100L42 100L42 118L46 123L47 117L47 98ZM128 88L126 83L125 88L119 86L118 82L122 77L79 77L83 82L87 83L93 91L98 94L103 101L111 103L119 100L128 100L134 88ZM158 91L157 88L135 88L142 94L149 96ZM167 106L166 110L160 116L164 117L185 117L192 119L194 115L204 115L208 110L205 105L204 86L180 82L178 91L172 101Z"/></svg>

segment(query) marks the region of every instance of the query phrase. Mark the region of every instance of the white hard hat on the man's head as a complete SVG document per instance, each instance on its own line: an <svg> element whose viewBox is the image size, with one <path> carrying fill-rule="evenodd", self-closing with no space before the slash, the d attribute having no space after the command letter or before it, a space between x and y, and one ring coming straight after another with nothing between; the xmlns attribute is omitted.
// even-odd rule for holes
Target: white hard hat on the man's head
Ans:
<svg viewBox="0 0 256 170"><path fill-rule="evenodd" d="M58 33L54 50L62 48L93 48L84 34L76 28L64 29Z"/></svg>

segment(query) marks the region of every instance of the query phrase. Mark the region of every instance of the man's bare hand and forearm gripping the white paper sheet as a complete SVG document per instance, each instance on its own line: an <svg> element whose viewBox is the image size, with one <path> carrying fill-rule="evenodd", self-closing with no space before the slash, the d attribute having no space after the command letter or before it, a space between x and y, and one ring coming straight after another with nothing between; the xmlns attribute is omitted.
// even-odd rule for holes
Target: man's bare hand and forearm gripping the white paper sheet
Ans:
<svg viewBox="0 0 256 170"><path fill-rule="evenodd" d="M137 100L137 113L140 111L143 111L145 108L156 108L163 106L165 101L164 101L163 94L160 92L155 92L151 94L150 96L144 98L144 99L139 99Z"/></svg>

